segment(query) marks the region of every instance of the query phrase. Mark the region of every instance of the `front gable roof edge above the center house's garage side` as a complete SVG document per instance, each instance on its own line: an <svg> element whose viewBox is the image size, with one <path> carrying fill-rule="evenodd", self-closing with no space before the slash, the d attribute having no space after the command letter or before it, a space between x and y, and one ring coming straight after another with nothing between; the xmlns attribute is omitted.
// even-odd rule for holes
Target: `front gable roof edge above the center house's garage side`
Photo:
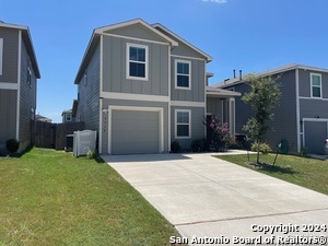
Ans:
<svg viewBox="0 0 328 246"><path fill-rule="evenodd" d="M157 31L156 28L154 28L153 26L148 24L142 19L134 19L134 20L131 20L131 21L120 22L120 23L117 23L117 24L106 25L106 26L95 28L92 33L91 39L90 39L89 45L87 45L86 50L85 50L85 54L82 58L82 62L81 62L81 66L79 68L78 74L75 77L74 83L78 84L79 81L80 81L80 78L83 75L83 72L86 68L86 63L91 59L92 51L96 48L96 45L98 44L101 35L103 35L106 32L115 31L115 30L118 30L118 28L122 28L122 27L127 27L127 26L136 25L136 24L140 24L145 30L152 32L154 35L159 36L159 38L165 40L165 43L167 43L173 48L178 46L178 43L176 40L172 39L171 37L168 37L165 34L161 33L160 31Z"/></svg>

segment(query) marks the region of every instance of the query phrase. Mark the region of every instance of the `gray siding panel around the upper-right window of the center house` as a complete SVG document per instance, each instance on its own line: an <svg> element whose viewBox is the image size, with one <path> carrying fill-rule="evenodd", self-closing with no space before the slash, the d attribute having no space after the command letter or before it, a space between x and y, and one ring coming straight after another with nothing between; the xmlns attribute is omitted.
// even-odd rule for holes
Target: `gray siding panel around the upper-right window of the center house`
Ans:
<svg viewBox="0 0 328 246"><path fill-rule="evenodd" d="M191 62L191 90L176 89L176 71L175 61L184 60ZM187 102L204 102L206 87L206 68L203 60L181 59L172 57L171 59L171 99L172 101L187 101Z"/></svg>

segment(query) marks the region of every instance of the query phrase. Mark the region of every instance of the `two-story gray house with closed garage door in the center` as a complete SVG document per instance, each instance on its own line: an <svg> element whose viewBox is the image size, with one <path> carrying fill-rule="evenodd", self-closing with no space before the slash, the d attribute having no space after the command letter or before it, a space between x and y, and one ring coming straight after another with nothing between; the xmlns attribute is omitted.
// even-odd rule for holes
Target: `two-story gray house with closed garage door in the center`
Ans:
<svg viewBox="0 0 328 246"><path fill-rule="evenodd" d="M190 150L206 138L207 113L234 119L238 93L207 86L211 60L141 19L96 28L74 81L73 114L98 132L99 153L168 152L175 140Z"/></svg>

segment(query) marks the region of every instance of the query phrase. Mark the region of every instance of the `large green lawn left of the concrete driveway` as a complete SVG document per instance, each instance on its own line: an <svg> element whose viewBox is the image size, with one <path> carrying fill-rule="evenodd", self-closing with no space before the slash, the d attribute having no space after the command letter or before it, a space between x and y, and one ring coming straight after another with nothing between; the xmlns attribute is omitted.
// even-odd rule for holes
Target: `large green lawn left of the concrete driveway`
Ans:
<svg viewBox="0 0 328 246"><path fill-rule="evenodd" d="M109 165L32 149L0 159L0 245L169 245L175 229Z"/></svg>

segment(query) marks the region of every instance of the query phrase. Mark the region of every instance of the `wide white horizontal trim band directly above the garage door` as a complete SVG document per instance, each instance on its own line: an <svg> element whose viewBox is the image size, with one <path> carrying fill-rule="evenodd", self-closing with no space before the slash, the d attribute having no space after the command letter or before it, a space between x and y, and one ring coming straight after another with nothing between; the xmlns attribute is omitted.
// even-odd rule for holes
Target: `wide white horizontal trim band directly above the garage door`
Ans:
<svg viewBox="0 0 328 246"><path fill-rule="evenodd" d="M119 93L119 92L102 92L101 97L108 98L108 99L128 99L128 101L144 101L144 102L164 102L164 103L169 102L168 96Z"/></svg>

